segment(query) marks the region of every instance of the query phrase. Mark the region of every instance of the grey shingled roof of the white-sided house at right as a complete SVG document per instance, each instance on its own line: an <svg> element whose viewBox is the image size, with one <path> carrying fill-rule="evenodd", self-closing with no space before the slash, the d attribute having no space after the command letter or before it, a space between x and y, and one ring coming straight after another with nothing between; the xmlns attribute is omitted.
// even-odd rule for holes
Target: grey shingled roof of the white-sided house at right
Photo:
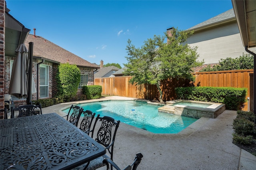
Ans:
<svg viewBox="0 0 256 170"><path fill-rule="evenodd" d="M223 12L222 14L219 14L217 16L210 18L209 20L201 22L200 24L197 24L196 26L193 26L193 27L189 28L188 30L195 30L195 29L203 28L206 26L214 25L214 24L220 24L221 22L225 22L225 21L232 20L235 18L236 17L234 14L234 10L232 8L226 12Z"/></svg>

